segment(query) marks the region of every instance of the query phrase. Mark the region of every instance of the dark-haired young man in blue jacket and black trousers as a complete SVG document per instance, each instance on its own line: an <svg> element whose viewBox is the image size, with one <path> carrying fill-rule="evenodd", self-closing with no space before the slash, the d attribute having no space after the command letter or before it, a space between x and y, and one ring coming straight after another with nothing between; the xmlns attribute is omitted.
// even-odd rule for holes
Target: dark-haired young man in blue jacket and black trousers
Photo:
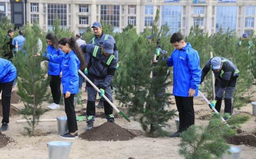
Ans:
<svg viewBox="0 0 256 159"><path fill-rule="evenodd" d="M201 81L201 69L198 52L190 43L183 40L181 33L174 33L170 39L174 47L167 65L173 66L173 90L179 111L180 127L169 137L180 137L182 131L195 123L193 97L197 96Z"/></svg>

